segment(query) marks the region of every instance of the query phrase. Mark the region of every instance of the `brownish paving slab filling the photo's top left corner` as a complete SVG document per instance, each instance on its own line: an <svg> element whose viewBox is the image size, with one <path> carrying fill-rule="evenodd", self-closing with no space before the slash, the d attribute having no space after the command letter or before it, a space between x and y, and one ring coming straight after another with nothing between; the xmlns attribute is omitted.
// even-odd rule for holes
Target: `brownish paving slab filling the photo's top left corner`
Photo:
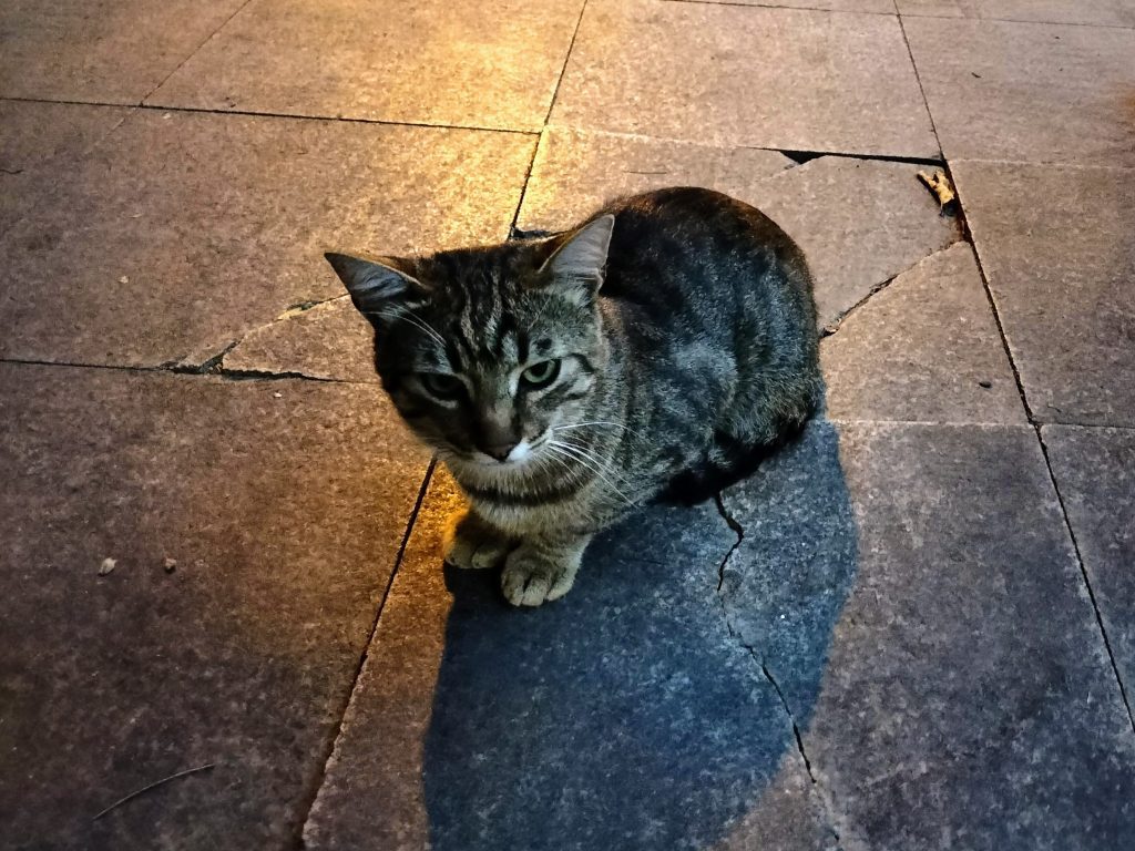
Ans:
<svg viewBox="0 0 1135 851"><path fill-rule="evenodd" d="M0 95L138 103L245 0L12 0Z"/></svg>

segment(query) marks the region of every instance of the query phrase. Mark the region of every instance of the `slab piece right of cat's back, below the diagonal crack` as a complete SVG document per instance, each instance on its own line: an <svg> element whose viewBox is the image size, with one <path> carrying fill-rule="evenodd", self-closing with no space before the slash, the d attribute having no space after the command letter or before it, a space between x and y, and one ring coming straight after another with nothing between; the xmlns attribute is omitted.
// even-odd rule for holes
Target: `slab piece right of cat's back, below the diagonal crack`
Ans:
<svg viewBox="0 0 1135 851"><path fill-rule="evenodd" d="M973 248L901 273L819 346L836 420L1025 422Z"/></svg>

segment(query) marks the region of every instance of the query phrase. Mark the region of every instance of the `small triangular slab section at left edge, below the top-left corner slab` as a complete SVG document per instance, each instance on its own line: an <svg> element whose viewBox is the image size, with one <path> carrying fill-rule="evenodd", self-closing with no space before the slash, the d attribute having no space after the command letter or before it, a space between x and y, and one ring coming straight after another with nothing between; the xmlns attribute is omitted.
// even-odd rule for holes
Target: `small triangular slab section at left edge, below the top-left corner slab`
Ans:
<svg viewBox="0 0 1135 851"><path fill-rule="evenodd" d="M129 110L75 103L0 100L0 234L26 216L45 188L74 174L76 161Z"/></svg>

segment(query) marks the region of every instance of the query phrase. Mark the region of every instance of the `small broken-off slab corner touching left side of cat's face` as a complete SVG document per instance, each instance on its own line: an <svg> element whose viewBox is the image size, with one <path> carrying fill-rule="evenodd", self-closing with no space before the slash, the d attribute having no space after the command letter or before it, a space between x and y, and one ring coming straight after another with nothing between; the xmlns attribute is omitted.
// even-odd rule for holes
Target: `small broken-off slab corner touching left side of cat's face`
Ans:
<svg viewBox="0 0 1135 851"><path fill-rule="evenodd" d="M300 373L308 378L378 381L373 331L348 296L287 311L249 331L221 361L226 371Z"/></svg>

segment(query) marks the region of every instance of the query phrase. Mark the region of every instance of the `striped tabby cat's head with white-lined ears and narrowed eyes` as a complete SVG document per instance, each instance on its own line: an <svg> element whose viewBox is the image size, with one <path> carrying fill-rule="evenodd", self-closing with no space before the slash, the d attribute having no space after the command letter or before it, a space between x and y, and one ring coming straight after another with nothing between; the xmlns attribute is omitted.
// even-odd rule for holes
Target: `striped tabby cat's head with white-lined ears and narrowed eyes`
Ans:
<svg viewBox="0 0 1135 851"><path fill-rule="evenodd" d="M547 467L586 419L608 353L598 290L614 218L424 258L327 260L375 327L375 366L410 428L459 478Z"/></svg>

